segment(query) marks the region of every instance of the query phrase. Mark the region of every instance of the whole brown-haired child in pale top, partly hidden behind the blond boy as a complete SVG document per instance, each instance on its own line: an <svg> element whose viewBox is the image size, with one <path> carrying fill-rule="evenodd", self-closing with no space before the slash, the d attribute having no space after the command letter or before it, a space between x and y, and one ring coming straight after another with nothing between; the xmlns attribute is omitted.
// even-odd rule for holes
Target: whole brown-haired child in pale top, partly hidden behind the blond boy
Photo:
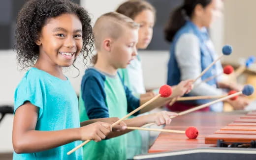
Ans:
<svg viewBox="0 0 256 160"><path fill-rule="evenodd" d="M116 12L128 16L135 23L140 25L136 48L142 50L146 49L151 42L153 27L155 25L156 10L154 6L145 0L128 0L121 4ZM138 54L130 61L127 68L120 69L119 72L125 85L128 86L134 96L142 99L152 98L154 96L153 92L146 92L143 82L141 58ZM180 83L180 86L185 86L187 82L188 81ZM146 154L150 145L149 139L149 132L133 131L128 133L128 159L132 159L134 155Z"/></svg>

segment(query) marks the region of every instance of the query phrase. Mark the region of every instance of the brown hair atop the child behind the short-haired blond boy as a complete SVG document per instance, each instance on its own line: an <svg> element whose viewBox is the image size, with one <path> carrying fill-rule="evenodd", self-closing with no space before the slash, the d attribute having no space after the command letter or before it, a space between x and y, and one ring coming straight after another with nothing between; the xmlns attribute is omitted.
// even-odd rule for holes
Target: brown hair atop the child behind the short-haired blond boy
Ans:
<svg viewBox="0 0 256 160"><path fill-rule="evenodd" d="M122 3L116 10L116 12L126 15L134 20L134 18L144 10L150 10L156 14L156 9L153 5L145 0L128 0ZM156 17L155 17L156 18Z"/></svg>

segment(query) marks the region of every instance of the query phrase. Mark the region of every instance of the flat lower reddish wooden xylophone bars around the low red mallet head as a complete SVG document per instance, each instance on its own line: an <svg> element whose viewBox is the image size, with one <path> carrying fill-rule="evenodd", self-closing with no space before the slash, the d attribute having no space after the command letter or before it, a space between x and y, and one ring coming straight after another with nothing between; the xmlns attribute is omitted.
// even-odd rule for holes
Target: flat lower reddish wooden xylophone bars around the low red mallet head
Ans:
<svg viewBox="0 0 256 160"><path fill-rule="evenodd" d="M214 133L243 116L246 112L192 112L172 119L171 125L165 126L169 130L186 130L195 126L199 135L196 139L188 139L185 134L160 133L149 153L181 151L186 149L216 147L215 144L205 144L205 136Z"/></svg>

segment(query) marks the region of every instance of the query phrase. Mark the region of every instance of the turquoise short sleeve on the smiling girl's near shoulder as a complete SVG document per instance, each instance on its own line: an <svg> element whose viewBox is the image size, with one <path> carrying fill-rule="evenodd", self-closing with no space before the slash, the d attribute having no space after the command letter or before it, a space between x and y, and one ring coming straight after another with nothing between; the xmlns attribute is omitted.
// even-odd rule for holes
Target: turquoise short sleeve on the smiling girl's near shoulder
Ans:
<svg viewBox="0 0 256 160"><path fill-rule="evenodd" d="M18 107L29 101L39 108L39 119L43 114L44 87L39 79L27 79L25 76L17 86L14 94L14 114Z"/></svg>

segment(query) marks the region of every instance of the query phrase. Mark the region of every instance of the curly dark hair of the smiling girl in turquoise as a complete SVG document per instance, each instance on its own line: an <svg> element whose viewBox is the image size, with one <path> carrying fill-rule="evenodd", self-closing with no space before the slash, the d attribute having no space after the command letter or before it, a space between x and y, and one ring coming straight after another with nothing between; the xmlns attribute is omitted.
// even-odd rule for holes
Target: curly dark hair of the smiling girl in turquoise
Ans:
<svg viewBox="0 0 256 160"><path fill-rule="evenodd" d="M14 49L22 69L31 67L38 58L39 47L35 41L47 20L63 13L77 15L82 23L83 47L81 52L84 63L87 63L86 58L91 55L94 49L94 36L88 12L70 0L28 0L18 14L15 32L16 44Z"/></svg>

